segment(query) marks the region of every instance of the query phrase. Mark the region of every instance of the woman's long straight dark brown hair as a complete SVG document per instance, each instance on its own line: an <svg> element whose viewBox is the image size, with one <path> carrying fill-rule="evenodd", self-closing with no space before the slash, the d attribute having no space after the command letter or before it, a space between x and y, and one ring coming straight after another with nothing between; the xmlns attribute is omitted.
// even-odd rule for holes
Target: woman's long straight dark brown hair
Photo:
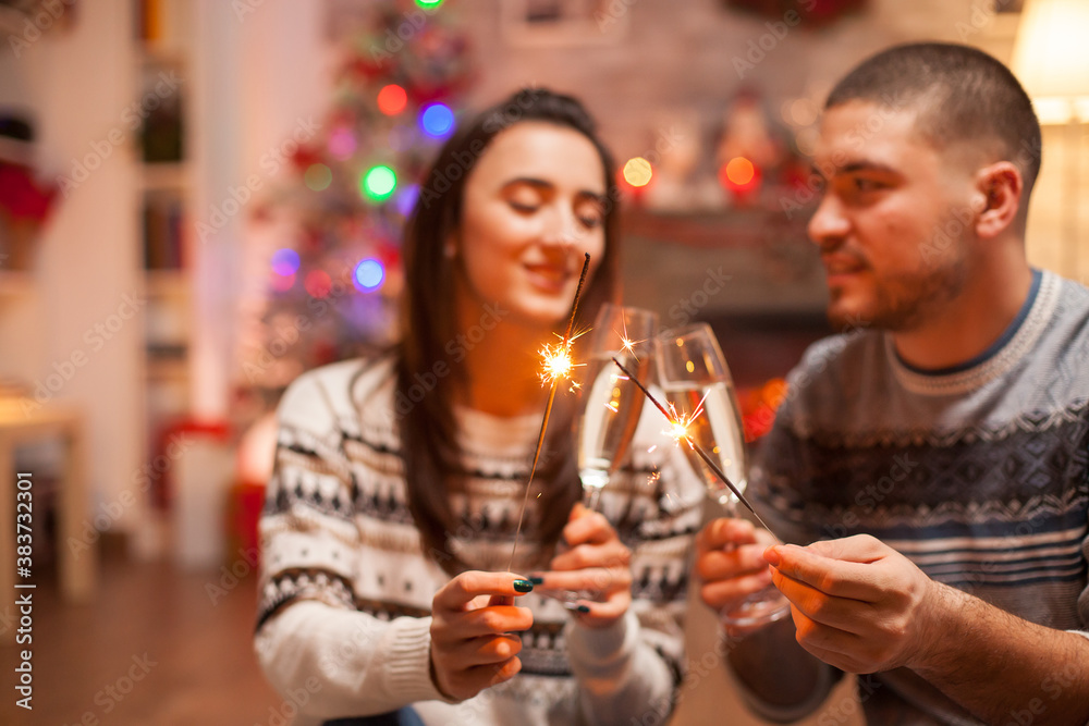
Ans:
<svg viewBox="0 0 1089 726"><path fill-rule="evenodd" d="M583 292L579 320L592 320L603 303L614 299L617 287L615 164L597 135L597 124L578 100L542 88L525 88L486 110L446 141L425 176L405 230L406 290L394 411L408 508L420 532L424 553L451 574L468 567L450 546L451 537L464 525L453 513L450 492L465 476L456 443L451 391L465 382L465 371L446 349L456 341L458 331L453 304L454 269L443 250L461 225L469 172L499 133L523 121L573 128L598 150L607 194L605 244L594 278ZM444 367L449 373L438 374L445 372ZM421 382L432 387L419 398ZM416 399L409 395L414 385ZM554 422L541 455L542 465L538 467L538 481L543 484L538 500L542 516L538 527L527 531L546 549L555 544L582 491L572 446L571 405L562 398L558 396Z"/></svg>

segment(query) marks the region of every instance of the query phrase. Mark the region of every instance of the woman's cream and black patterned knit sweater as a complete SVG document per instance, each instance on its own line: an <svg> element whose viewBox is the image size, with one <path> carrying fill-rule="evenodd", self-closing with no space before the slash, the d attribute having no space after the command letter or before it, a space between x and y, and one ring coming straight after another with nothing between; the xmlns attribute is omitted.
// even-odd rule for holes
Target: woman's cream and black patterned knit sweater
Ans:
<svg viewBox="0 0 1089 726"><path fill-rule="evenodd" d="M451 703L428 673L431 598L450 576L421 554L405 502L392 371L389 358L328 366L301 377L280 405L260 524L256 648L271 684L297 704L295 723L406 704L443 726L663 718L682 675L686 565L702 490L664 445L657 411L645 408L632 464L602 496L633 550L627 616L590 629L555 600L522 596L534 612L522 672ZM461 519L451 545L475 569L505 570L540 417L462 409L456 418L468 477L451 495ZM542 554L531 536L535 501L513 567L523 575Z"/></svg>

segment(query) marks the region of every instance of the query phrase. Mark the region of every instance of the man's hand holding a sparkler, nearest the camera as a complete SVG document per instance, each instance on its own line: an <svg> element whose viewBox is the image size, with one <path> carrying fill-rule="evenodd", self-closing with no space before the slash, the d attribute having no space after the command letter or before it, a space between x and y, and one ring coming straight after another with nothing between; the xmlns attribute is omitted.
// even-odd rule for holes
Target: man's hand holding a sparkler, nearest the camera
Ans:
<svg viewBox="0 0 1089 726"><path fill-rule="evenodd" d="M925 662L939 586L869 534L768 547L775 587L791 601L797 640L848 673Z"/></svg>

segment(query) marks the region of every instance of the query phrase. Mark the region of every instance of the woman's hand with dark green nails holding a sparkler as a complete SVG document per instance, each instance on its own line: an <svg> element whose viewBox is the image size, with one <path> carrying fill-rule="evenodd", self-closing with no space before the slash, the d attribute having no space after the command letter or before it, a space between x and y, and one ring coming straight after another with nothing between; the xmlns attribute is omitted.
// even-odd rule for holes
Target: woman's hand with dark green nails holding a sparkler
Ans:
<svg viewBox="0 0 1089 726"><path fill-rule="evenodd" d="M449 699L464 701L522 669L522 639L534 624L514 598L534 589L511 573L462 573L431 601L431 678Z"/></svg>

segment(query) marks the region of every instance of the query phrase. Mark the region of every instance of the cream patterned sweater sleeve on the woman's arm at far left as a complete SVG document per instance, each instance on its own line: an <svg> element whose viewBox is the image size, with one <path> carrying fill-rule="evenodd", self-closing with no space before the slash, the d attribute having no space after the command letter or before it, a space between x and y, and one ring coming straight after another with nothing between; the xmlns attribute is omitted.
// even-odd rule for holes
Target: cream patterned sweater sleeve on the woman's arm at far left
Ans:
<svg viewBox="0 0 1089 726"><path fill-rule="evenodd" d="M370 715L441 699L429 672L431 618L381 620L356 608L352 478L319 376L292 384L278 411L260 522L258 661L307 716Z"/></svg>

